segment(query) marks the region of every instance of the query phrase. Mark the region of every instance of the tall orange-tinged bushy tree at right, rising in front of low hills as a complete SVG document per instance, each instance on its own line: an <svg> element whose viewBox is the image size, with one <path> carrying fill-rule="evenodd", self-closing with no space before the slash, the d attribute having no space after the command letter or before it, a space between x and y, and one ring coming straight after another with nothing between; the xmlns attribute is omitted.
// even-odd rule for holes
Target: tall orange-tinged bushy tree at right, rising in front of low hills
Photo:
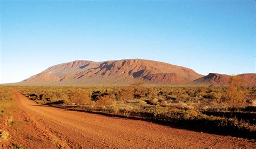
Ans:
<svg viewBox="0 0 256 149"><path fill-rule="evenodd" d="M229 80L230 86L227 89L226 103L232 107L234 112L235 106L240 106L244 103L245 95L241 90L242 78L239 76L231 76Z"/></svg>

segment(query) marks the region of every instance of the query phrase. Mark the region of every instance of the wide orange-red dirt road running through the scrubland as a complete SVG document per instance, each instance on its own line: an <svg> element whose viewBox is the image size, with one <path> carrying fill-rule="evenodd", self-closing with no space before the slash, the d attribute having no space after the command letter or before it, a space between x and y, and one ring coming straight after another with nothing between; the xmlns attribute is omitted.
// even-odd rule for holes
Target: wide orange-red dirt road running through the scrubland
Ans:
<svg viewBox="0 0 256 149"><path fill-rule="evenodd" d="M180 130L36 104L14 90L17 105L38 129L69 147L256 147L250 140ZM45 137L48 137L45 135Z"/></svg>

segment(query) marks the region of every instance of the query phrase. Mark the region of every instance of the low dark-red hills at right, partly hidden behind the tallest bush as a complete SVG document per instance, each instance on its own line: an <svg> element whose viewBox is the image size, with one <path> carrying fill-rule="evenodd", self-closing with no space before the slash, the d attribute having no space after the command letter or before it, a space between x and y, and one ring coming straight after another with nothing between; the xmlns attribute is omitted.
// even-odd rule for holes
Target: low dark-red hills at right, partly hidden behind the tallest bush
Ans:
<svg viewBox="0 0 256 149"><path fill-rule="evenodd" d="M245 85L255 85L256 84L256 74L255 73L244 73L238 75L242 78ZM201 77L193 81L194 84L211 84L211 85L228 85L230 76L223 75L219 73L209 73L209 75Z"/></svg>

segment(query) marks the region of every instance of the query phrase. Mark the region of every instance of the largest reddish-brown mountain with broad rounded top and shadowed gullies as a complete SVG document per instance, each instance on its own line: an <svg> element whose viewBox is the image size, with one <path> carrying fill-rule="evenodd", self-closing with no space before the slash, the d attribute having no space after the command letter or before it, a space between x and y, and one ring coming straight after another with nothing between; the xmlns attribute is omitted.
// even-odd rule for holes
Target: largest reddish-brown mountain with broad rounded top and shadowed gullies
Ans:
<svg viewBox="0 0 256 149"><path fill-rule="evenodd" d="M192 69L144 59L92 62L76 60L49 67L22 81L23 84L129 85L187 84L204 77Z"/></svg>

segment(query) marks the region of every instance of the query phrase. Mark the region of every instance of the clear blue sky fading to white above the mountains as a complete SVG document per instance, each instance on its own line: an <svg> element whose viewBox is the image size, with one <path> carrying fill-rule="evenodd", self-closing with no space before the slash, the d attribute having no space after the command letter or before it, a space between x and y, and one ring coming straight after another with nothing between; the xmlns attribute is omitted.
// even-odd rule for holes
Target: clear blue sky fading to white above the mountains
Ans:
<svg viewBox="0 0 256 149"><path fill-rule="evenodd" d="M73 60L255 73L254 1L1 0L0 83Z"/></svg>

